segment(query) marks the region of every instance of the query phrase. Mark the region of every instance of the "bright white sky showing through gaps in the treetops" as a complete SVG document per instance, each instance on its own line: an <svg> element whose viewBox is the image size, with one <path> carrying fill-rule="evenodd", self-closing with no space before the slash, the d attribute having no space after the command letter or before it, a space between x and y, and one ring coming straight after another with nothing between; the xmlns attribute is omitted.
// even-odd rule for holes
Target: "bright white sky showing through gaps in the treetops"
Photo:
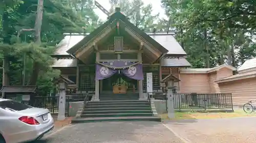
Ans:
<svg viewBox="0 0 256 143"><path fill-rule="evenodd" d="M106 10L110 10L111 5L109 4L109 0L96 0L101 6L103 6ZM167 19L165 15L164 9L161 7L161 0L142 0L144 5L152 4L153 6L153 14L160 14L160 18ZM95 13L99 16L101 20L106 20L108 16L106 16L100 9L96 8ZM121 10L122 11L122 10Z"/></svg>

